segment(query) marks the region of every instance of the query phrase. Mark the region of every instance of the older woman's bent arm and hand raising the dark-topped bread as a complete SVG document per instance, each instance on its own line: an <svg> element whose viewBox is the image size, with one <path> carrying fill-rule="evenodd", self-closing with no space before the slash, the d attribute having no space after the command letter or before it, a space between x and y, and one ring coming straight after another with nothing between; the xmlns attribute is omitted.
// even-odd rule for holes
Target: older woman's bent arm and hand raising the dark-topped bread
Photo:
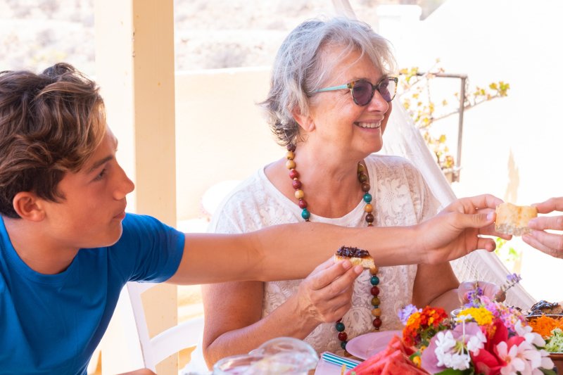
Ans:
<svg viewBox="0 0 563 375"><path fill-rule="evenodd" d="M342 317L350 308L353 283L362 267L341 266L324 262L301 282L296 294L263 319L263 283L203 286L203 356L208 366L222 357L249 352L270 338L303 339L318 324Z"/></svg>

